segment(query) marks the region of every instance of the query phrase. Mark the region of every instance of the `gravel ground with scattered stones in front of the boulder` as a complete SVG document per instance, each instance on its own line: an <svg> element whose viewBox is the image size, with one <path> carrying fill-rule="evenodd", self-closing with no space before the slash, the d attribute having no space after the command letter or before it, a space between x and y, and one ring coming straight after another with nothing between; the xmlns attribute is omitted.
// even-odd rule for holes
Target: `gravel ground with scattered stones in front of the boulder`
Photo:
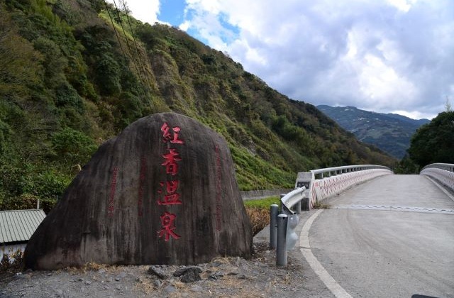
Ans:
<svg viewBox="0 0 454 298"><path fill-rule="evenodd" d="M264 233L262 233L264 232ZM184 266L108 266L9 272L0 275L0 297L332 297L304 261L289 252L288 266L276 267L267 231L254 238L253 258L216 258L194 267L200 280L175 277Z"/></svg>

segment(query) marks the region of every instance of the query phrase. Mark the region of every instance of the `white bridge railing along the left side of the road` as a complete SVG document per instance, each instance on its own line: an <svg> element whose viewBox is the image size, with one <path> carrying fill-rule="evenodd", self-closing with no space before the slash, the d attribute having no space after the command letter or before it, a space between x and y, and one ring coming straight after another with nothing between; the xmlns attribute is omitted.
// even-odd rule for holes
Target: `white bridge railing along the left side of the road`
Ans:
<svg viewBox="0 0 454 298"><path fill-rule="evenodd" d="M306 187L306 197L309 198L306 205L312 209L316 202L339 194L355 184L389 174L393 174L392 170L382 165L327 167L310 172L299 172L295 188Z"/></svg>

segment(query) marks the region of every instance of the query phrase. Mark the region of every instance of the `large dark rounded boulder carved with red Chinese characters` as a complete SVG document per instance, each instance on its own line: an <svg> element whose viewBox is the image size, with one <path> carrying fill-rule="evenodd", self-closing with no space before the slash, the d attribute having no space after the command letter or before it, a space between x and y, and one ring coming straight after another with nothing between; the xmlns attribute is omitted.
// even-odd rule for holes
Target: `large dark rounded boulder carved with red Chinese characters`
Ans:
<svg viewBox="0 0 454 298"><path fill-rule="evenodd" d="M101 145L28 242L26 267L206 263L252 253L230 151L179 114L140 118Z"/></svg>

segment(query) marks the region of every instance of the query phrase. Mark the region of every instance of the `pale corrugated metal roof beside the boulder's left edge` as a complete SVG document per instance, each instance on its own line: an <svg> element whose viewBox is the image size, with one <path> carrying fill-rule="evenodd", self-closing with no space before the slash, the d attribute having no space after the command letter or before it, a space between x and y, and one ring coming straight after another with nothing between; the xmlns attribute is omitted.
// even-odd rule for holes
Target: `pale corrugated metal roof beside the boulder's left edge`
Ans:
<svg viewBox="0 0 454 298"><path fill-rule="evenodd" d="M0 243L28 241L44 218L41 209L0 211Z"/></svg>

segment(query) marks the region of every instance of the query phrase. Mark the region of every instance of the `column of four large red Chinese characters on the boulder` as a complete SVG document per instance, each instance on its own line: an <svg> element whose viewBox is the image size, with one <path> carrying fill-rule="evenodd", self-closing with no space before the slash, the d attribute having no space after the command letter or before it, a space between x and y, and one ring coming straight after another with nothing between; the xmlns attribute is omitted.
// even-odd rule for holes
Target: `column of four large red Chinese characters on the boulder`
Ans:
<svg viewBox="0 0 454 298"><path fill-rule="evenodd" d="M172 128L168 123L163 123L161 126L162 142L174 145L183 145L184 141L180 138L179 133L181 128L173 126ZM167 152L162 155L164 162L161 163L165 167L165 173L172 177L178 175L179 162L182 158L179 155L177 148L168 148ZM181 195L177 192L179 180L167 180L160 182L160 189L157 191L158 199L156 201L159 206L181 205ZM180 236L175 232L175 219L177 215L168 211L161 216L162 229L157 232L159 238L164 238L164 241L169 241L170 238L178 239Z"/></svg>

